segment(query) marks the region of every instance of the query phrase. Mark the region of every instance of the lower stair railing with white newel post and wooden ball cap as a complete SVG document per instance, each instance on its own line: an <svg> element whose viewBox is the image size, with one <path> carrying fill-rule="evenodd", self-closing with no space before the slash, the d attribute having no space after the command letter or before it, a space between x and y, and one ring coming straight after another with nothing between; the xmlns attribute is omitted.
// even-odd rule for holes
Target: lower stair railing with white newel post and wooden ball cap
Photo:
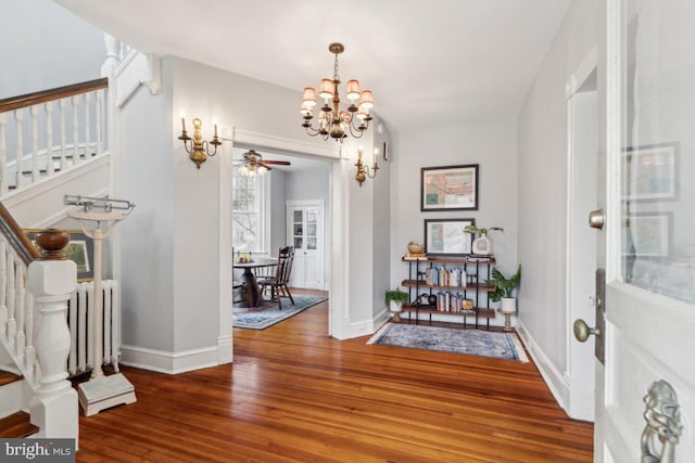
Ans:
<svg viewBox="0 0 695 463"><path fill-rule="evenodd" d="M66 320L77 269L62 258L60 247L38 240L48 249L42 254L0 203L0 344L33 393L20 408L29 409L39 427L36 437L77 439L79 410L67 381Z"/></svg>

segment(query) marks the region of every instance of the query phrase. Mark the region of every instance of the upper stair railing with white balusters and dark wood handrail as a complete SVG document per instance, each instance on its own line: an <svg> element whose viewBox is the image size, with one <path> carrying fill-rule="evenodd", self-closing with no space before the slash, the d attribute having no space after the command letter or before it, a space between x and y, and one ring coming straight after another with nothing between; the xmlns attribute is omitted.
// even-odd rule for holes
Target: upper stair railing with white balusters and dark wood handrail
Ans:
<svg viewBox="0 0 695 463"><path fill-rule="evenodd" d="M0 197L105 152L108 87L101 78L0 100Z"/></svg>

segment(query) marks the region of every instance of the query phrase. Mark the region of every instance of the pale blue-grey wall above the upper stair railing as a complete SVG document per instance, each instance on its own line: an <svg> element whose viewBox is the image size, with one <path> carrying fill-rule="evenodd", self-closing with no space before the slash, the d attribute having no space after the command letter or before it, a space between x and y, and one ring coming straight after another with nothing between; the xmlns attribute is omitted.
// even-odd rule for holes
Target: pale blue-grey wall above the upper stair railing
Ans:
<svg viewBox="0 0 695 463"><path fill-rule="evenodd" d="M5 0L0 99L101 77L104 34L51 0Z"/></svg>

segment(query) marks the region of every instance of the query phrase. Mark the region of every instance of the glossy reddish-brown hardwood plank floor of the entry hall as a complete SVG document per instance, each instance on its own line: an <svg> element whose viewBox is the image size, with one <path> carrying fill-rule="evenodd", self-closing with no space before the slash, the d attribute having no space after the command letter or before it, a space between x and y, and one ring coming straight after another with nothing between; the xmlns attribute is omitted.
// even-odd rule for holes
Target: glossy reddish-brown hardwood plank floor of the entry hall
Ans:
<svg viewBox="0 0 695 463"><path fill-rule="evenodd" d="M592 461L533 363L336 340L327 307L235 329L231 365L124 368L138 401L80 416L77 461Z"/></svg>

